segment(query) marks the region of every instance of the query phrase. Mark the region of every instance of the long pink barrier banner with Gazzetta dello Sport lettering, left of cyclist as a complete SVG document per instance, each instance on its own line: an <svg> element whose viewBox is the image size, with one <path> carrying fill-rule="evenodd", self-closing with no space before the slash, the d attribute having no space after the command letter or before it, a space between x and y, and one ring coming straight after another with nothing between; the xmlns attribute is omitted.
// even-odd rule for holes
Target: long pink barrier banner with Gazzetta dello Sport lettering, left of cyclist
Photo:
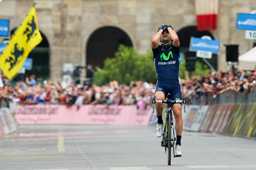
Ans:
<svg viewBox="0 0 256 170"><path fill-rule="evenodd" d="M15 110L19 124L112 124L148 125L152 108L136 105L20 105Z"/></svg>

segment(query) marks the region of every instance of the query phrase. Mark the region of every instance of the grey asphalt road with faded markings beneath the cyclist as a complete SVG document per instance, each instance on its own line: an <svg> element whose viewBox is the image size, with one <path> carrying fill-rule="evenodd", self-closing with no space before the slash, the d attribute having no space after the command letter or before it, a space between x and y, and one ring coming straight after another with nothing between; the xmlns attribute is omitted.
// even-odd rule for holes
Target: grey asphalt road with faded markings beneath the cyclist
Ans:
<svg viewBox="0 0 256 170"><path fill-rule="evenodd" d="M21 125L0 138L0 170L256 169L256 140L184 131L171 166L160 141L152 125Z"/></svg>

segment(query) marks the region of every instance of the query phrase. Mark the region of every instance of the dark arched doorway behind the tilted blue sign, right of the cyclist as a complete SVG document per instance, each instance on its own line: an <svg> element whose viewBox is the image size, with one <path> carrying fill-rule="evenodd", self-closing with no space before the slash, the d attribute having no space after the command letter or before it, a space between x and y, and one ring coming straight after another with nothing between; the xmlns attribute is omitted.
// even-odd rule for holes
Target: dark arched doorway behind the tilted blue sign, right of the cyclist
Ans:
<svg viewBox="0 0 256 170"><path fill-rule="evenodd" d="M182 28L181 30L177 31L177 35L180 40L180 52L182 52L186 57L196 57L196 52L189 51L191 37L201 38L202 36L210 36L212 39L215 39L209 31L197 31L196 26ZM197 60L205 64L202 58L197 58ZM213 66L215 70L217 70L217 54L213 54L211 59L206 60L211 66Z"/></svg>

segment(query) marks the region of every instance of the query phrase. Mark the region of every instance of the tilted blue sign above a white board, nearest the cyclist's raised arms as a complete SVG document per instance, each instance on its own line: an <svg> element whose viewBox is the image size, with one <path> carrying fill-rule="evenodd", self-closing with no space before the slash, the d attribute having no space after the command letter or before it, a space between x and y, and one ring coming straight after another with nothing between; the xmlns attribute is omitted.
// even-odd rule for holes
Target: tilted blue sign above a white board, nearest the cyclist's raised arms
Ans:
<svg viewBox="0 0 256 170"><path fill-rule="evenodd" d="M191 37L190 39L190 51L210 51L218 53L220 51L220 40L209 40Z"/></svg>

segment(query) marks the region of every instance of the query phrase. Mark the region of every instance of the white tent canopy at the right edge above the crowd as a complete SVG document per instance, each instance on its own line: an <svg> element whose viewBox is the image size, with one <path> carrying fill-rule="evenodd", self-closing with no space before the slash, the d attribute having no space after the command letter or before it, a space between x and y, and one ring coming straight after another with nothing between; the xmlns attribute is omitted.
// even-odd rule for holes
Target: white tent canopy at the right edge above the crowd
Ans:
<svg viewBox="0 0 256 170"><path fill-rule="evenodd" d="M238 57L238 69L254 71L256 68L256 46Z"/></svg>

